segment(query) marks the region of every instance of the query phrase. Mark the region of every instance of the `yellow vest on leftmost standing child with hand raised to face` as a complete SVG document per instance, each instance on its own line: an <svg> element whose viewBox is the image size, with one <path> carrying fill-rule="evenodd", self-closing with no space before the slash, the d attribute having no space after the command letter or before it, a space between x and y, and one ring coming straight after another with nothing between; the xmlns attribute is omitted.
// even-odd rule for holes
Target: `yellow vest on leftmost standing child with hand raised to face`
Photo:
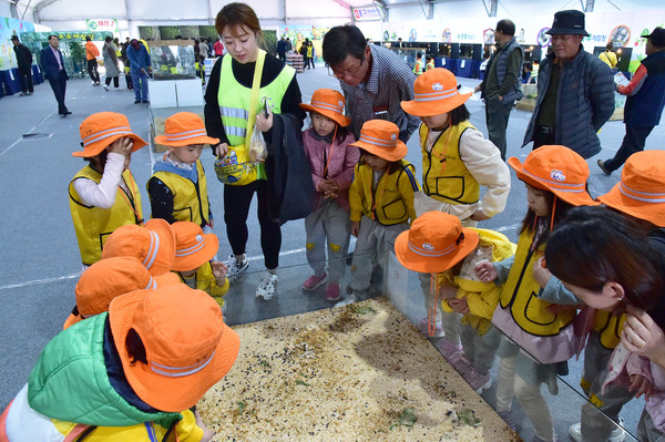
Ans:
<svg viewBox="0 0 665 442"><path fill-rule="evenodd" d="M88 165L74 175L69 185L70 210L74 222L76 239L79 240L81 261L90 266L102 258L102 247L113 230L127 224L143 223L141 193L134 176L132 176L130 169L126 169L122 173L122 178L130 192L127 193L121 186L117 186L113 207L86 206L81 202L74 189L74 181L80 178L91 179L99 184L102 174Z"/></svg>

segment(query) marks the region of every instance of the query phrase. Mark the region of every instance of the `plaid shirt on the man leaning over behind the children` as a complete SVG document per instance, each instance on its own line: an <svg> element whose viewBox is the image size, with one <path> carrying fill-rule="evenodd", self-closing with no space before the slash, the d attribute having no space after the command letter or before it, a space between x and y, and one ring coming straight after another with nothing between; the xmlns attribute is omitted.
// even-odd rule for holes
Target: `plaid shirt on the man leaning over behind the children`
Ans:
<svg viewBox="0 0 665 442"><path fill-rule="evenodd" d="M376 44L369 44L369 48L372 64L367 82L349 86L339 81L346 97L346 115L351 119L350 130L359 140L362 123L375 119L388 120L397 124L399 138L406 143L420 124L419 117L407 114L400 106L401 101L413 100L416 75L390 50Z"/></svg>

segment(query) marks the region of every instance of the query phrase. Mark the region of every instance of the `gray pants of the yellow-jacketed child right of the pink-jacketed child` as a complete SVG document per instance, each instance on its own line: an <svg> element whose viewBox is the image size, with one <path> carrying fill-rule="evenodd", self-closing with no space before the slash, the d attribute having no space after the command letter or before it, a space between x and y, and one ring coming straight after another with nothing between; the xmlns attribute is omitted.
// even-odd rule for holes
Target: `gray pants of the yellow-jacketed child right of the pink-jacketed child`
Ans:
<svg viewBox="0 0 665 442"><path fill-rule="evenodd" d="M383 226L362 215L356 250L351 263L351 289L354 295L364 295L369 289L374 263L386 270L388 250L395 247L395 238L409 229L407 223Z"/></svg>

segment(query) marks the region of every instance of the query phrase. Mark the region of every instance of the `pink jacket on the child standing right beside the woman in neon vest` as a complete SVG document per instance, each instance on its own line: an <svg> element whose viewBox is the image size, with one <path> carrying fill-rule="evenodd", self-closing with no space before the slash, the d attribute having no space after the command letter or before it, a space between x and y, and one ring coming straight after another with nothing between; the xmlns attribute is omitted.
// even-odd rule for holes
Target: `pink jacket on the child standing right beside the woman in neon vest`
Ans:
<svg viewBox="0 0 665 442"><path fill-rule="evenodd" d="M360 151L358 147L349 146L356 138L349 133L341 142L330 143L318 140L316 134L313 134L313 129L303 132L303 145L305 154L309 161L311 169L311 181L317 189L316 207L321 202L324 194L318 192L318 185L324 179L324 171L328 165L327 174L329 178L335 178L339 185L340 192L337 197L337 203L345 210L349 212L349 187L354 182L354 167L360 160Z"/></svg>

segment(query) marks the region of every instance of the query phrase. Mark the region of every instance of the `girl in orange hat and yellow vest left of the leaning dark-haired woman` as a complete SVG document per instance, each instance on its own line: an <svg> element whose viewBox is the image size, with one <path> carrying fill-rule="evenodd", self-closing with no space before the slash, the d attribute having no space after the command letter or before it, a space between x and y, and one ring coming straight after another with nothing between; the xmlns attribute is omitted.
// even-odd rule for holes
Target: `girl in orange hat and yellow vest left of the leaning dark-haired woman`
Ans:
<svg viewBox="0 0 665 442"><path fill-rule="evenodd" d="M531 152L524 164L515 157L509 158L508 164L526 184L529 210L522 222L518 249L514 258L477 266L477 275L483 282L503 285L492 323L516 343L504 340L499 348L502 359L497 378L497 412L512 420L514 391L533 423L534 441L551 442L556 435L540 386L548 383L555 394L555 373L567 372L566 361L576 350L575 308L552 304L554 299L562 299L556 304L566 304L564 300L570 300L572 294L543 268L542 256L550 230L571 207L597 203L586 192L586 162L567 147L542 146Z"/></svg>

